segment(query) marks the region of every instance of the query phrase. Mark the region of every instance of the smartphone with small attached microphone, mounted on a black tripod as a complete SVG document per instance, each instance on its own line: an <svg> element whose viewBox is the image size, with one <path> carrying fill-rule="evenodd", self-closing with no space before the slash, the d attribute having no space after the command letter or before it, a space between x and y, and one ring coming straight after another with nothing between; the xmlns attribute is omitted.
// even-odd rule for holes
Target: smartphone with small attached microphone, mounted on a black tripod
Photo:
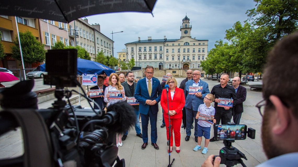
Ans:
<svg viewBox="0 0 298 167"><path fill-rule="evenodd" d="M240 163L243 167L246 165L243 163L241 158L246 157L240 152L237 148L232 146L232 143L235 140L245 140L246 134L249 138L255 138L255 130L252 128L248 128L246 125L236 125L234 123L228 122L227 125L215 125L214 138L216 141L223 140L224 146L219 151L219 157L221 157L221 164L225 164L226 166L234 166ZM213 161L216 156L214 156Z"/></svg>

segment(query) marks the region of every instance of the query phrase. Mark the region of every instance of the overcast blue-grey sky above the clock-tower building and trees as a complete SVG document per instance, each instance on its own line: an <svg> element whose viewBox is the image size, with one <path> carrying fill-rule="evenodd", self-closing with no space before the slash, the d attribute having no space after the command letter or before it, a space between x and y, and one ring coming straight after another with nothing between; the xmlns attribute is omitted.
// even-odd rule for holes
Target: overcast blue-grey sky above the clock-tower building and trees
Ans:
<svg viewBox="0 0 298 167"><path fill-rule="evenodd" d="M216 40L224 39L226 29L236 21L247 19L246 10L255 6L253 0L157 0L153 15L150 13L107 13L88 16L89 24L100 24L100 31L112 39L114 56L125 49L125 43L138 40L180 39L182 19L187 15L192 25L191 37L209 40L208 51L214 48Z"/></svg>

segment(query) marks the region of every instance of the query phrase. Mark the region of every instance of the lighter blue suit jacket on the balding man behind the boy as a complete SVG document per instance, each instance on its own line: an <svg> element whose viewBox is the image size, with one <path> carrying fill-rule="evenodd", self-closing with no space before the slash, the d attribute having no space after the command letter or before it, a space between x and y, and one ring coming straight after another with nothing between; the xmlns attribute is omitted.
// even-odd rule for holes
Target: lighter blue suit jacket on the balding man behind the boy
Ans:
<svg viewBox="0 0 298 167"><path fill-rule="evenodd" d="M198 86L203 86L202 97L199 98L199 97L195 96L194 94L190 95L190 94L188 94L188 91L189 91L189 86L192 86L192 85L193 85L193 80L187 81L185 84L185 89L184 89L185 107L188 109L191 109L193 107L193 110L197 111L199 108L199 105L204 103L204 97L210 92L209 92L207 82L202 81L200 79L200 83Z"/></svg>

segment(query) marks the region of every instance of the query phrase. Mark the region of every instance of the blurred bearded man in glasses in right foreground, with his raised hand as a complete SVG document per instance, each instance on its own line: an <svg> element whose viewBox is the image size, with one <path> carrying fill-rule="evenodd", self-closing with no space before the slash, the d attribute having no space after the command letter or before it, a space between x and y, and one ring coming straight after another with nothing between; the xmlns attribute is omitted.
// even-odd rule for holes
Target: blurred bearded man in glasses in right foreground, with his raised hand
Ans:
<svg viewBox="0 0 298 167"><path fill-rule="evenodd" d="M280 61L283 57L283 61ZM262 143L268 160L263 166L297 166L298 159L298 32L289 35L269 52L263 75L263 99L256 107L262 122ZM283 71L281 73L281 71ZM291 74L288 77L286 74ZM275 76L275 77L273 77ZM202 166L218 167L210 155Z"/></svg>

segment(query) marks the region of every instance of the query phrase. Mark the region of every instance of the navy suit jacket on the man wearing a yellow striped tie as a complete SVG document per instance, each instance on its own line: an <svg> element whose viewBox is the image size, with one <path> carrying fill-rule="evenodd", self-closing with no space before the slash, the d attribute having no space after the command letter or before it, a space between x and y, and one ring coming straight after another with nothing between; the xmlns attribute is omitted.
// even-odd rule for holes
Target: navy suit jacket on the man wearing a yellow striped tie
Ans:
<svg viewBox="0 0 298 167"><path fill-rule="evenodd" d="M152 92L149 96L146 77L140 79L136 84L136 89L134 90L134 97L140 102L139 111L142 114L147 115L149 111L149 105L146 104L146 100L156 100L156 104L151 106L153 114L158 112L158 103L160 102L160 97L162 95L162 86L158 79L152 77Z"/></svg>

